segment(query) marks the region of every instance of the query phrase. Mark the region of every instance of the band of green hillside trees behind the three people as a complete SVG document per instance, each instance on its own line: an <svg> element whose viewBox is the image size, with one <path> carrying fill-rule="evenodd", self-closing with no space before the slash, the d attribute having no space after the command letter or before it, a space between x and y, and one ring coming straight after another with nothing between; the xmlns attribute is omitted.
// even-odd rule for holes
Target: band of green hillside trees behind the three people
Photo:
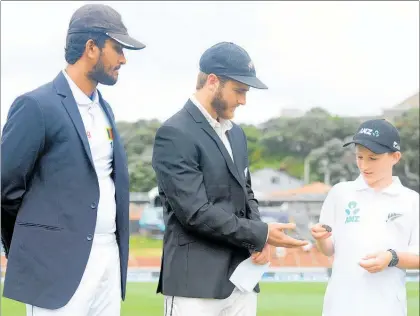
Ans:
<svg viewBox="0 0 420 316"><path fill-rule="evenodd" d="M248 141L251 171L260 168L283 169L302 178L304 160L311 153L311 180L329 180L335 184L358 175L353 146L342 144L351 138L360 120L330 115L313 108L298 118L273 118L254 126L242 124ZM156 186L151 166L154 137L161 125L158 120L118 122L128 157L131 191L148 191ZM419 191L419 111L407 111L395 121L400 130L403 158L395 175L410 188ZM326 176L325 176L326 175Z"/></svg>

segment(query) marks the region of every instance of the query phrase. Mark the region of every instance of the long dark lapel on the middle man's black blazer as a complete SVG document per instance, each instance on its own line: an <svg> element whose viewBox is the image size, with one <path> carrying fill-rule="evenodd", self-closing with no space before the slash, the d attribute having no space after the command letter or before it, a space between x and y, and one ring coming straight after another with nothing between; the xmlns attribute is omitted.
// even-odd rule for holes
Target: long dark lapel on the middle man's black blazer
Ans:
<svg viewBox="0 0 420 316"><path fill-rule="evenodd" d="M228 169L230 173L233 175L233 177L238 181L238 183L243 187L244 183L241 179L238 168L233 163L232 158L230 157L225 145L223 144L220 137L216 134L216 131L210 126L209 122L205 119L204 115L200 112L200 110L197 108L197 106L191 102L191 100L188 100L187 104L185 105L187 111L192 115L194 120L200 124L200 127L213 139L213 141L216 143L217 147L219 148L220 152L223 155L223 158L226 161L226 164L228 166ZM233 149L232 149L233 152Z"/></svg>

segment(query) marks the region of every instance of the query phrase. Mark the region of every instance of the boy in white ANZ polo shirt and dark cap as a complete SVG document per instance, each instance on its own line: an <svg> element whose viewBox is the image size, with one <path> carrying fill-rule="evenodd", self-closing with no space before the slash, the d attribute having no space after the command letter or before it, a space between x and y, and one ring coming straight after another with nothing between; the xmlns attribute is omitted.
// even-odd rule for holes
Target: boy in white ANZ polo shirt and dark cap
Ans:
<svg viewBox="0 0 420 316"><path fill-rule="evenodd" d="M360 176L336 184L312 227L334 255L323 316L406 316L406 269L419 269L419 194L392 176L401 158L397 129L364 122L353 141Z"/></svg>

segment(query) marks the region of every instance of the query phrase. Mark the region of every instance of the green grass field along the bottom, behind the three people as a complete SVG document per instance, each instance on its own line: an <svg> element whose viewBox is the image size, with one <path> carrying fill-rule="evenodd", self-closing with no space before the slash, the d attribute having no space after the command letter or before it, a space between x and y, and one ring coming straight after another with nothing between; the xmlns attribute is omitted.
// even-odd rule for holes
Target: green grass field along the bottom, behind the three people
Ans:
<svg viewBox="0 0 420 316"><path fill-rule="evenodd" d="M258 316L321 316L324 283L262 283ZM155 294L155 283L130 283L121 316L163 316L163 299ZM409 283L408 316L419 315L419 284ZM1 301L2 316L25 316L22 304ZM197 315L199 316L199 315Z"/></svg>

